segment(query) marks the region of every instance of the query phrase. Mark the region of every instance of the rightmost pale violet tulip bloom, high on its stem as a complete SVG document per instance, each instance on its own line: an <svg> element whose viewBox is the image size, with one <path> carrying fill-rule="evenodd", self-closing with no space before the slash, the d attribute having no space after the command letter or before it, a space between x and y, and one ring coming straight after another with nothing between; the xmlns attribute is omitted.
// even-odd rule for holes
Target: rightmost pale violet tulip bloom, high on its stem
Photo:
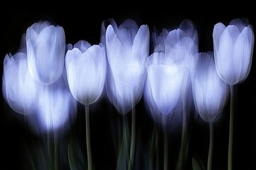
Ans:
<svg viewBox="0 0 256 170"><path fill-rule="evenodd" d="M235 19L226 27L217 23L213 29L214 57L223 81L235 85L245 80L252 64L254 33L246 21Z"/></svg>

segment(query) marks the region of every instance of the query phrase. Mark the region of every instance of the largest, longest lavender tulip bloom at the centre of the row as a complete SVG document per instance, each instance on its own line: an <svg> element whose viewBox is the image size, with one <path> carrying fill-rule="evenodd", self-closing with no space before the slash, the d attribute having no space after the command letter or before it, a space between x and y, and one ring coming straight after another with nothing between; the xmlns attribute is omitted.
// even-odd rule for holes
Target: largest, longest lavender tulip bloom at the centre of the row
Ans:
<svg viewBox="0 0 256 170"><path fill-rule="evenodd" d="M122 114L142 98L149 56L149 28L127 19L119 27L114 21L106 30L107 96Z"/></svg>

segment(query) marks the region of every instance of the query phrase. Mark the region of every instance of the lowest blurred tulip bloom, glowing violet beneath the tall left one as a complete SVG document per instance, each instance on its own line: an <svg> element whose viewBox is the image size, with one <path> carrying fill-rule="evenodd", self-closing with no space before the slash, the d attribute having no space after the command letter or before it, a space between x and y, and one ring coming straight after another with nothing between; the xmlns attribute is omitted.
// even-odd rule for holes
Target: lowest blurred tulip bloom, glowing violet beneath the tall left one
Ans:
<svg viewBox="0 0 256 170"><path fill-rule="evenodd" d="M53 84L44 85L38 93L36 110L28 120L36 133L52 130L65 132L76 116L76 101L68 89L68 81L63 72Z"/></svg>

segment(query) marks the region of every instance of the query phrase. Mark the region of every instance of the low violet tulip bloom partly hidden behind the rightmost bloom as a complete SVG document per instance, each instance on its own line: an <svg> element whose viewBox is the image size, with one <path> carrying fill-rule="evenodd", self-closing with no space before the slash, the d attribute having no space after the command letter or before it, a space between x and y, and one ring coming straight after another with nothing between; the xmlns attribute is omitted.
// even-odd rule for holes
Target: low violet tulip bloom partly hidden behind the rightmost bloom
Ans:
<svg viewBox="0 0 256 170"><path fill-rule="evenodd" d="M199 53L192 81L196 111L203 120L213 123L228 100L229 86L218 76L212 52Z"/></svg>

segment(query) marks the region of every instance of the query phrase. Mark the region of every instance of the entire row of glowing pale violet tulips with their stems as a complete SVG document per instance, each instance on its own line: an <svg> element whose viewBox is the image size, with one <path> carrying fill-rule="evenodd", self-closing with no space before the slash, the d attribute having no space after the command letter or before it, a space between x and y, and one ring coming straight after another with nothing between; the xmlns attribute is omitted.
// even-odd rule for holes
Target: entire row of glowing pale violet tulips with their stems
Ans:
<svg viewBox="0 0 256 170"><path fill-rule="evenodd" d="M21 40L21 49L4 58L3 95L9 106L28 118L36 132L69 128L76 101L85 106L88 169L90 156L89 106L105 91L122 115L132 111L132 140L128 168L134 166L134 106L144 96L146 109L166 131L169 120L182 118L180 157L186 155L186 124L191 106L210 123L208 169L211 169L212 124L220 117L235 86L246 79L252 64L254 33L246 19L213 29L213 52L198 52L198 33L191 21L177 29L152 33L127 19L120 26L113 19L102 23L99 45L85 40L65 42L62 27L47 21L34 23ZM230 108L228 168L232 169L233 109ZM167 156L164 157L167 159ZM167 160L166 160L167 162ZM183 169L183 162L178 169ZM167 169L167 165L164 166Z"/></svg>

